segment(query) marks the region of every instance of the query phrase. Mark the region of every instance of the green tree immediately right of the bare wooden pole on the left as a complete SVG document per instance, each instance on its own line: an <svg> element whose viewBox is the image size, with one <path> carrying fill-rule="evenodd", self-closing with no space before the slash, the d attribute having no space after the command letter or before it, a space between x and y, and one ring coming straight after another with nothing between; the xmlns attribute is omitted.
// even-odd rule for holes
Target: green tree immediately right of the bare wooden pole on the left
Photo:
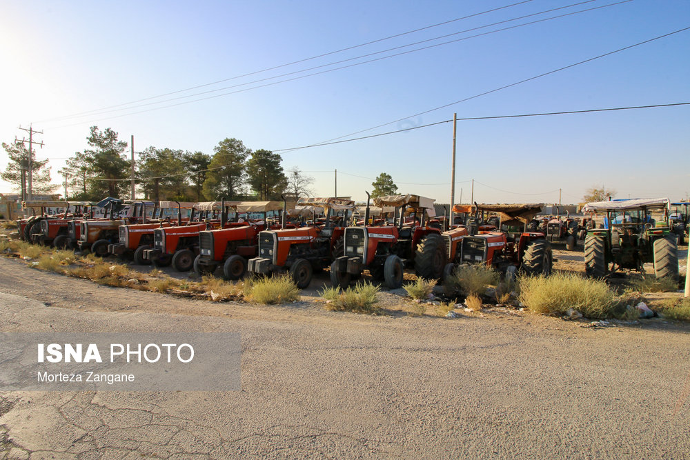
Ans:
<svg viewBox="0 0 690 460"><path fill-rule="evenodd" d="M137 175L143 179L144 196L153 201L187 197L184 172L184 152L170 148L148 147L139 154Z"/></svg>

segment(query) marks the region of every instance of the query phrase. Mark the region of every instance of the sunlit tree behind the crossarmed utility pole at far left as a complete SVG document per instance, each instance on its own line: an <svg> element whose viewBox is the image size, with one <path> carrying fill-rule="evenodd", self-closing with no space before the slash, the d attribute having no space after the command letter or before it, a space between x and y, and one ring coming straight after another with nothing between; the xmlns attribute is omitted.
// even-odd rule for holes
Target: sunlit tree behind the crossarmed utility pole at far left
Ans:
<svg viewBox="0 0 690 460"><path fill-rule="evenodd" d="M12 183L15 191L21 192L21 167L24 165L26 171L26 187L28 193L28 168L29 168L29 150L23 142L2 143L3 148L7 152L8 165L5 172L0 174L3 181ZM31 192L34 195L38 194L52 194L59 188L55 184L50 183L50 168L46 165L48 160L37 160L36 152L31 152Z"/></svg>

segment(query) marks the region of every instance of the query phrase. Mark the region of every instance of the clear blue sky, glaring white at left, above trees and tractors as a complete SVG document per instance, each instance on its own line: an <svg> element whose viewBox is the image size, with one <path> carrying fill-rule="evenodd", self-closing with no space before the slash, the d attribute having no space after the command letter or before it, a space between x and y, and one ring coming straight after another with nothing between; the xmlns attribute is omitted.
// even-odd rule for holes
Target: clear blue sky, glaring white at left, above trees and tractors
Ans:
<svg viewBox="0 0 690 460"><path fill-rule="evenodd" d="M125 141L134 135L136 151L213 154L226 137L279 150L392 121L352 137L449 120L453 112L491 117L690 102L690 30L497 90L690 27L690 1L510 6L519 2L0 0L0 141L26 136L18 127L32 123L45 143L37 157L50 159L59 183L57 170L86 148L92 125ZM604 8L486 34L596 7ZM452 22L426 28L445 21ZM381 52L395 47L404 48ZM323 72L353 63L362 64ZM484 92L491 93L426 112ZM620 198L684 199L689 121L690 106L459 121L455 202L461 189L469 201L471 179L475 200L486 203L553 203L559 189L563 203L575 203L602 184ZM399 192L448 203L452 141L452 123L441 123L281 153L286 170L299 166L315 179L318 195L333 194L335 169L337 193L355 199L388 172ZM0 169L6 165L0 150ZM9 184L0 182L0 191Z"/></svg>

